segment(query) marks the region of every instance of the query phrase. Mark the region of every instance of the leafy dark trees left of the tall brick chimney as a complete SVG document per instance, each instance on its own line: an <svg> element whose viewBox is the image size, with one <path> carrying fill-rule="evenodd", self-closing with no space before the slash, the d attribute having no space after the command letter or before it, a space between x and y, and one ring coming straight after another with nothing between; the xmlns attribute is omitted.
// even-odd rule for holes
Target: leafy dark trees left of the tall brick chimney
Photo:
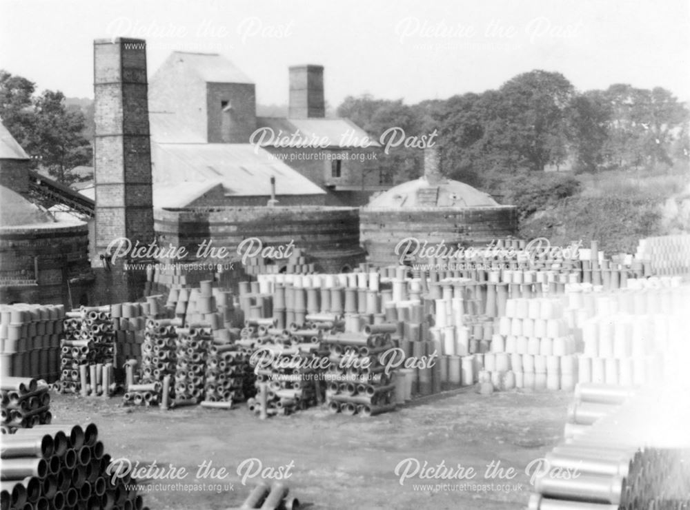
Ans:
<svg viewBox="0 0 690 510"><path fill-rule="evenodd" d="M0 118L17 142L57 181L71 184L79 178L70 170L92 161L92 149L83 136L84 116L67 109L62 92L34 95L35 85L21 76L0 71Z"/></svg>

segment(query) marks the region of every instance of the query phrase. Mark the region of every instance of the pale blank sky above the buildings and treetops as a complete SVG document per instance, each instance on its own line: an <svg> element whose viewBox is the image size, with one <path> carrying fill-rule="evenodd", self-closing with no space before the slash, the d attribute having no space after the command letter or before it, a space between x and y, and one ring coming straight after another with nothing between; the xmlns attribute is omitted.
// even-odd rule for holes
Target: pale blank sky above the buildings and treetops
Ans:
<svg viewBox="0 0 690 510"><path fill-rule="evenodd" d="M0 68L93 96L92 40L141 37L155 71L172 50L218 52L285 104L288 65L324 65L326 100L416 103L497 88L532 69L578 90L660 85L690 100L689 0L0 0Z"/></svg>

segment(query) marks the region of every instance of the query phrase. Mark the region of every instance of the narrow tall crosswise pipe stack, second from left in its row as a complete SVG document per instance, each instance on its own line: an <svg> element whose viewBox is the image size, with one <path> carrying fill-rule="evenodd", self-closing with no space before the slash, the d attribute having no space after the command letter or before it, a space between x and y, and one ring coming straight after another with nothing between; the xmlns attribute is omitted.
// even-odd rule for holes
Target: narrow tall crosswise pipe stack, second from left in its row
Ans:
<svg viewBox="0 0 690 510"><path fill-rule="evenodd" d="M128 362L124 403L153 405L156 402L164 402L166 405L168 400L162 395L165 380L168 381L166 385L168 396L174 398L174 388L170 385L170 378L177 374L177 330L175 328L180 325L179 319L148 318L146 320L139 384L135 389L134 366L136 363ZM139 388L142 385L144 388Z"/></svg>

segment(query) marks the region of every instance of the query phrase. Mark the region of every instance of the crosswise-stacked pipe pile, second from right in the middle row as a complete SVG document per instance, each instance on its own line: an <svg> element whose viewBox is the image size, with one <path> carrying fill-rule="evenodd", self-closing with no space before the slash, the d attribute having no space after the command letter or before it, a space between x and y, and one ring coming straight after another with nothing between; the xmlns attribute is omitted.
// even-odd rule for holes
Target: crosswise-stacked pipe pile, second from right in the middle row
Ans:
<svg viewBox="0 0 690 510"><path fill-rule="evenodd" d="M245 329L257 332L251 360L255 365L257 398L248 399L260 418L292 414L322 401L321 360L324 327L340 327L335 316L310 317L306 325L277 329L273 319L248 319ZM319 328L319 325L321 328Z"/></svg>

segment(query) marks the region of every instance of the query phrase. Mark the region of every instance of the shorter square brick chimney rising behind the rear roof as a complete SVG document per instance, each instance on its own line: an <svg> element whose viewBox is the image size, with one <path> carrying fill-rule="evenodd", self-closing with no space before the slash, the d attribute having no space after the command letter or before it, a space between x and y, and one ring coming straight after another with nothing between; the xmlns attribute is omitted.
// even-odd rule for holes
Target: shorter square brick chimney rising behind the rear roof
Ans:
<svg viewBox="0 0 690 510"><path fill-rule="evenodd" d="M293 65L290 67L290 119L323 119L326 116L324 101L324 66Z"/></svg>

